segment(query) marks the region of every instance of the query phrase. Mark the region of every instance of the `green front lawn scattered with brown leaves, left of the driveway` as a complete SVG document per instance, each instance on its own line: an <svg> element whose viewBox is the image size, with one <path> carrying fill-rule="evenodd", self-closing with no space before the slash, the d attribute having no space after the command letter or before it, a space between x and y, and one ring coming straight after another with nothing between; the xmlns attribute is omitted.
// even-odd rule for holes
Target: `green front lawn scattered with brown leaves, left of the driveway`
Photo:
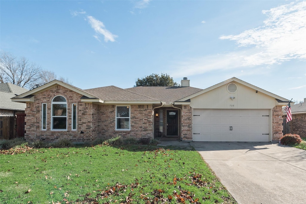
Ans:
<svg viewBox="0 0 306 204"><path fill-rule="evenodd" d="M0 203L236 203L196 151L51 148L0 164Z"/></svg>

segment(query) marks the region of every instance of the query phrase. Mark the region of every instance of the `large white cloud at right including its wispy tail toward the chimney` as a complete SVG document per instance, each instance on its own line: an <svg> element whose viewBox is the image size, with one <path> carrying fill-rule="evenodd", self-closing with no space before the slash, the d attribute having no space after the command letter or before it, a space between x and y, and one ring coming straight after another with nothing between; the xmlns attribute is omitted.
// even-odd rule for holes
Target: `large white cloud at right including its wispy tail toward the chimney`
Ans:
<svg viewBox="0 0 306 204"><path fill-rule="evenodd" d="M291 2L264 10L267 19L263 26L237 35L223 35L219 39L236 41L239 51L186 59L179 62L171 76L191 76L214 70L247 70L269 68L292 59L306 60L306 2ZM255 45L255 46L254 46ZM260 65L261 68L256 68ZM259 66L258 66L259 67ZM251 71L252 70L252 71ZM265 70L268 72L268 69ZM176 75L176 73L178 73ZM242 73L242 72L241 72ZM246 74L246 72L244 72Z"/></svg>

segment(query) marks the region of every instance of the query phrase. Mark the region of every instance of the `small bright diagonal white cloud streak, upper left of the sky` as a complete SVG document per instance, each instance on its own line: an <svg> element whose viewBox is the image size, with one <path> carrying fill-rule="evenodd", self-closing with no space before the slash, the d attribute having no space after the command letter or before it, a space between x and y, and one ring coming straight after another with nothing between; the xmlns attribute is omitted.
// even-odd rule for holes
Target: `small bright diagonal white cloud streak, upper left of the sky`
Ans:
<svg viewBox="0 0 306 204"><path fill-rule="evenodd" d="M99 40L99 34L104 35L104 41L105 42L115 42L115 38L118 37L118 35L112 34L110 31L105 29L105 26L103 22L95 19L92 16L87 17L89 24L91 25L91 28L93 28L97 35L94 35L95 39Z"/></svg>

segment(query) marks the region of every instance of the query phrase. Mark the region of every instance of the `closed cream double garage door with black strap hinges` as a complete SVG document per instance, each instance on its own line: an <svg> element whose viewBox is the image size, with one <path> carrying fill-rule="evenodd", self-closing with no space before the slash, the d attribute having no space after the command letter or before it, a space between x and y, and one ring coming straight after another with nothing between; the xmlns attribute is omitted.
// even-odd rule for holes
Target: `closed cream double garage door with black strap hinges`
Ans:
<svg viewBox="0 0 306 204"><path fill-rule="evenodd" d="M193 109L195 142L269 142L269 109Z"/></svg>

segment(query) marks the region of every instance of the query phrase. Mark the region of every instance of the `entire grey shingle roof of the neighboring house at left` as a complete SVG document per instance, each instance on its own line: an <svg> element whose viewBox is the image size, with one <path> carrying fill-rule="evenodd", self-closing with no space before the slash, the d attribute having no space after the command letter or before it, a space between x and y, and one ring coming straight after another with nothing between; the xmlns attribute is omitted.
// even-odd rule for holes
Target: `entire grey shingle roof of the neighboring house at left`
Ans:
<svg viewBox="0 0 306 204"><path fill-rule="evenodd" d="M25 110L26 104L13 102L11 98L27 92L28 89L12 83L0 83L0 108L9 110Z"/></svg>

